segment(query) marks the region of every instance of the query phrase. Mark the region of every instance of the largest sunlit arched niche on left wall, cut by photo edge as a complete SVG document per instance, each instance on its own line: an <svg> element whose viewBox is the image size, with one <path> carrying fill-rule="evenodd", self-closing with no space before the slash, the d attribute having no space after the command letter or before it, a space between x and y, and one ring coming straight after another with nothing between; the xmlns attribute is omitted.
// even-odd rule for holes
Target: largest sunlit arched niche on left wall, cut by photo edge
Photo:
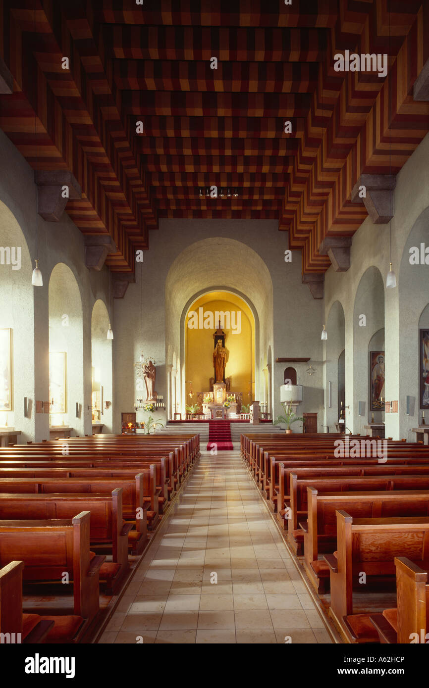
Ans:
<svg viewBox="0 0 429 688"><path fill-rule="evenodd" d="M0 427L20 430L22 443L34 439L35 425L32 263L23 231L1 201L0 227Z"/></svg>

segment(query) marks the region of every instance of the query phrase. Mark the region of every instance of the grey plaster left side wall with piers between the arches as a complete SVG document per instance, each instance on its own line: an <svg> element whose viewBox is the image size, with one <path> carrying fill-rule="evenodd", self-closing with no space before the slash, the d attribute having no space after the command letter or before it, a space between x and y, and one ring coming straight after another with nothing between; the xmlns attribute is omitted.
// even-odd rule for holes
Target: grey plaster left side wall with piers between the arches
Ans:
<svg viewBox="0 0 429 688"><path fill-rule="evenodd" d="M50 275L56 264L64 263L72 271L79 288L82 303L82 352L83 397L76 398L82 405L82 427L86 434L92 433L91 406L91 313L96 299L108 305L109 271L90 272L85 267L83 234L66 213L60 222L45 222L36 215L36 185L34 171L17 151L7 136L0 131L0 206L4 204L12 213L22 233L23 264L20 272L25 279L17 283L13 296L14 308L14 359L18 372L14 375L14 407L23 409L23 397L30 400L30 418L23 418L23 410L14 418L17 429L23 434L20 441L40 442L49 437L49 414L35 413L35 401L47 401L49 394L48 351L49 351L49 308L48 286ZM36 222L39 228L39 255L36 256ZM0 246L16 245L16 234L11 237L0 223ZM28 250L30 259L25 257ZM31 286L34 260L39 257L39 268L43 275L43 286ZM11 271L0 266L0 292L4 283L10 281ZM18 278L14 278L18 279ZM4 280L4 282L3 282ZM30 288L28 288L28 284ZM111 313L113 320L113 314ZM19 323L19 325L17 325ZM82 395L82 392L80 392ZM76 416L76 413L73 414ZM70 418L70 425L74 425ZM77 420L77 419L76 419Z"/></svg>

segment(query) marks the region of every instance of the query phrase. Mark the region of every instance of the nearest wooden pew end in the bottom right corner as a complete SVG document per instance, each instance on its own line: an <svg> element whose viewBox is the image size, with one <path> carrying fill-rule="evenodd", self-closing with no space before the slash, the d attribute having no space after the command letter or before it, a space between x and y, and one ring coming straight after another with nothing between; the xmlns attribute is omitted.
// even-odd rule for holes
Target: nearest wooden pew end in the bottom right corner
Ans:
<svg viewBox="0 0 429 688"><path fill-rule="evenodd" d="M370 614L380 643L429 643L429 570L395 557L397 607ZM362 615L363 616L363 615ZM362 619L364 621L364 619Z"/></svg>

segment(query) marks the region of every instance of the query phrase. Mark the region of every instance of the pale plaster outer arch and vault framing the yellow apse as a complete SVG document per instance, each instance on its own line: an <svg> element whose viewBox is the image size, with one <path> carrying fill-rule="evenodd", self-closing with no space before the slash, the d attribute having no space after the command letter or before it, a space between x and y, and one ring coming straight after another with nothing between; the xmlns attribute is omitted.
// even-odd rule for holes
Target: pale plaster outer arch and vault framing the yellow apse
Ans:
<svg viewBox="0 0 429 688"><path fill-rule="evenodd" d="M210 237L196 241L176 257L165 283L165 351L180 352L185 361L185 316L189 305L210 291L237 294L249 305L255 319L255 362L273 346L273 283L262 258L236 239ZM171 361L166 358L167 365ZM182 367L182 389L185 374ZM255 398L260 394L255 373ZM184 398L182 393L182 405ZM182 408L184 411L184 407Z"/></svg>

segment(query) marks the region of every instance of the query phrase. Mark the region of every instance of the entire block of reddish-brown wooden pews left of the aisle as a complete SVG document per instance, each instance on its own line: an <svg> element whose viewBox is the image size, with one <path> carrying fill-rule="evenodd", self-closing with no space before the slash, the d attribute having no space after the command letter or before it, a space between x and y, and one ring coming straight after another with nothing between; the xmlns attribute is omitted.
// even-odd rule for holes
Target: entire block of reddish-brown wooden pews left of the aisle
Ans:
<svg viewBox="0 0 429 688"><path fill-rule="evenodd" d="M199 455L191 434L0 449L0 640L90 642Z"/></svg>

